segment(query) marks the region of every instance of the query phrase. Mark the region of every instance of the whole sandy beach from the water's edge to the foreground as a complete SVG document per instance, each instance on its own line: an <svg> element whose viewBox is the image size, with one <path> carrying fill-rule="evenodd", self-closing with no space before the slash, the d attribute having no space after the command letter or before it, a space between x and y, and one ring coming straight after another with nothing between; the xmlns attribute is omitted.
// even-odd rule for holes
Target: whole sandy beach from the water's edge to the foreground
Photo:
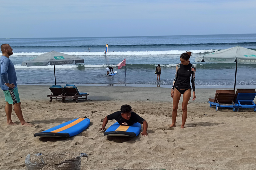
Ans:
<svg viewBox="0 0 256 170"><path fill-rule="evenodd" d="M81 169L180 169L238 170L256 167L256 113L253 109L210 108L208 98L216 89L196 89L189 101L188 118L181 129L181 103L177 127L170 128L172 98L169 88L124 86L78 86L88 101L49 102L49 86L18 85L24 119L35 125L6 125L5 100L0 93L0 170L26 169L25 157L38 152L87 153ZM182 100L181 100L182 101ZM254 100L256 102L256 100ZM98 129L101 120L123 104L148 122L148 136L106 137ZM97 112L95 112L97 111ZM94 113L92 113L94 112ZM90 126L67 138L34 137L34 133L79 117ZM12 115L13 122L19 123ZM106 128L115 121L109 121Z"/></svg>

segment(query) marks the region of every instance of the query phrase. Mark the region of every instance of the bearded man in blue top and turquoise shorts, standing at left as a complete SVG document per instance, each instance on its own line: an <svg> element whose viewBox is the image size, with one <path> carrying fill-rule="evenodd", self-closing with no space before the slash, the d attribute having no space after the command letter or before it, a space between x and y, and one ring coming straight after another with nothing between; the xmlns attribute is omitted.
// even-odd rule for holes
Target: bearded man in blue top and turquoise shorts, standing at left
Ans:
<svg viewBox="0 0 256 170"><path fill-rule="evenodd" d="M1 51L3 55L0 58L0 86L4 91L5 96L5 113L7 118L7 125L16 125L12 122L12 104L14 112L20 120L21 125L33 126L23 119L20 108L20 97L17 87L17 77L12 61L9 59L13 54L12 47L9 44L2 44Z"/></svg>

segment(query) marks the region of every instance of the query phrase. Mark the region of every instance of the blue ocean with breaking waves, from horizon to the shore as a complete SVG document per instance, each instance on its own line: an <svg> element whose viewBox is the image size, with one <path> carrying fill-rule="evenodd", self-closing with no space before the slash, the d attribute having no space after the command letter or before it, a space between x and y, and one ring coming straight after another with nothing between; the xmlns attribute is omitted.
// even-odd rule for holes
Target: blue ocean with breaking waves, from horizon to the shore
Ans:
<svg viewBox="0 0 256 170"><path fill-rule="evenodd" d="M10 38L0 39L13 49L18 85L54 85L53 66L21 66L21 62L49 51L58 51L84 59L83 64L56 65L57 85L110 85L172 87L175 66L180 54L191 51L190 62L196 65L196 88L232 88L235 63L196 63L195 57L234 46L256 50L256 34L84 37L84 38ZM104 55L105 45L109 52ZM91 48L91 49L88 49ZM117 64L126 59L126 67ZM161 66L161 80L155 68ZM118 74L106 76L106 67ZM125 76L126 75L126 76ZM256 88L256 64L238 64L238 88Z"/></svg>

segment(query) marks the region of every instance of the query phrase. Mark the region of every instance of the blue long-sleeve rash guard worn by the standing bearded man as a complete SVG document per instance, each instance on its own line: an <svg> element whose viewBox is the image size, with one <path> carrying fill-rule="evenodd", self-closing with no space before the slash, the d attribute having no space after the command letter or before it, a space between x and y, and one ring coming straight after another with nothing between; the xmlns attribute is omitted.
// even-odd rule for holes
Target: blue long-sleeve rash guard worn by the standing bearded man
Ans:
<svg viewBox="0 0 256 170"><path fill-rule="evenodd" d="M15 87L17 87L17 76L14 68L14 64L12 61L2 55L0 58L0 86L2 90L8 90L9 87L7 87L4 83L14 83Z"/></svg>

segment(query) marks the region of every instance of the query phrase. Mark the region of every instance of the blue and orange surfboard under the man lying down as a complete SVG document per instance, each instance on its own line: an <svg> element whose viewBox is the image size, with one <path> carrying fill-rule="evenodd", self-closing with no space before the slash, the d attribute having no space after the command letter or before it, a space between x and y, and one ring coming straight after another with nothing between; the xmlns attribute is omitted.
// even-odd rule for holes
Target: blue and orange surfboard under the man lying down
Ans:
<svg viewBox="0 0 256 170"><path fill-rule="evenodd" d="M141 124L135 123L132 126L119 125L118 122L111 125L105 132L104 136L131 136L135 137L140 133Z"/></svg>

